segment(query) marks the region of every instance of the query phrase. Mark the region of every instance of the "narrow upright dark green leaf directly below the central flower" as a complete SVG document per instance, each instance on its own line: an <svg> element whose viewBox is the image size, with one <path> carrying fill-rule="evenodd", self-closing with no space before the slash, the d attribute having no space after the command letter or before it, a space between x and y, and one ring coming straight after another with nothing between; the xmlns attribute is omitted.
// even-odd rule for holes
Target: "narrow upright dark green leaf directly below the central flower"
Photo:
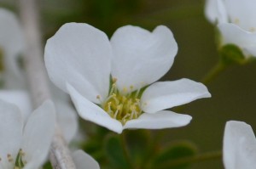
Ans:
<svg viewBox="0 0 256 169"><path fill-rule="evenodd" d="M125 169L129 168L129 164L125 160L125 155L121 147L119 137L109 135L104 145L105 153L108 161L116 168Z"/></svg>

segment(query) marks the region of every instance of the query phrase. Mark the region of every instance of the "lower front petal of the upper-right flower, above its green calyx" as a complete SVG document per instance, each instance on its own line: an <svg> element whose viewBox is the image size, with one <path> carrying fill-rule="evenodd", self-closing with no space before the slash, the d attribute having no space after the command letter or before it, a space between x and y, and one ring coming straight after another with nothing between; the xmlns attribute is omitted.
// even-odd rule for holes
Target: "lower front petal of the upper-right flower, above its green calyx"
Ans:
<svg viewBox="0 0 256 169"><path fill-rule="evenodd" d="M252 52L253 56L256 56L256 51L252 48L256 48L256 33L242 30L235 24L220 24L218 29L221 32L223 38L223 44L236 44L242 50Z"/></svg>

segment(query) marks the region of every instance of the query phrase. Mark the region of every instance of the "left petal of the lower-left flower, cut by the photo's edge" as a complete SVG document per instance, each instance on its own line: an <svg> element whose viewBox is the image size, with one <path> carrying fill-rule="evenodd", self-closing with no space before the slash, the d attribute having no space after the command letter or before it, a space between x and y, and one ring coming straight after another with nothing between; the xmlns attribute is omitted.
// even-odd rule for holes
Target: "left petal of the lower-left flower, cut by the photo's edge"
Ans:
<svg viewBox="0 0 256 169"><path fill-rule="evenodd" d="M22 128L23 120L17 106L0 100L0 162L6 163L8 154L15 159L20 149Z"/></svg>

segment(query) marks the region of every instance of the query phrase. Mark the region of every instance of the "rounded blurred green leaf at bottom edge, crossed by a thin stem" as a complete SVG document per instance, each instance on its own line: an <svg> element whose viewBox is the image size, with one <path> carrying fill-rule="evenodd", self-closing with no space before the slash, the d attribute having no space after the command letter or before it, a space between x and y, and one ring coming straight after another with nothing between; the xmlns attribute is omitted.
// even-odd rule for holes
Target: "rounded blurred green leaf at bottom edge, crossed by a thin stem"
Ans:
<svg viewBox="0 0 256 169"><path fill-rule="evenodd" d="M197 149L190 142L178 142L160 151L154 159L152 168L158 169L185 169L189 166L188 159L195 156Z"/></svg>

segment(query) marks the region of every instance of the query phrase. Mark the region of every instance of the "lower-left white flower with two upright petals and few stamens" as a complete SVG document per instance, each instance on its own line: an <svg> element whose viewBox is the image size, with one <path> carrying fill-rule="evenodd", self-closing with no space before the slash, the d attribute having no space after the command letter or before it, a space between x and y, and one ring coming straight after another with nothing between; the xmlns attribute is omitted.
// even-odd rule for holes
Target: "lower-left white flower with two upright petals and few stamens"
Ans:
<svg viewBox="0 0 256 169"><path fill-rule="evenodd" d="M0 100L0 168L39 168L48 155L54 131L52 102L44 102L24 124L15 104Z"/></svg>

